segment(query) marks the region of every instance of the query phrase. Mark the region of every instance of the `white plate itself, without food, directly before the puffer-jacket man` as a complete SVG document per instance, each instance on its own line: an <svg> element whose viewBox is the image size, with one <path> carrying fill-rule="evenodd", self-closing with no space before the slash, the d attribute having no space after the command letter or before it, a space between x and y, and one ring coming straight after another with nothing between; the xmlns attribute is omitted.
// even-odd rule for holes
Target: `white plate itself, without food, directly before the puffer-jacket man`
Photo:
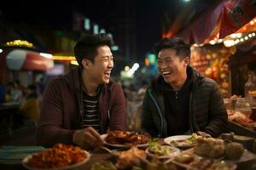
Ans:
<svg viewBox="0 0 256 170"><path fill-rule="evenodd" d="M176 141L177 144L175 144L174 146L175 147L179 147L179 148L189 148L189 147L193 147L195 146L195 144L189 144L189 143L186 143L186 142L179 142L180 140L185 140L185 139L188 139L190 138L191 135L177 135L177 136L170 136L166 139L164 139L164 142L166 144L170 144L170 145L174 145L171 143L172 140Z"/></svg>

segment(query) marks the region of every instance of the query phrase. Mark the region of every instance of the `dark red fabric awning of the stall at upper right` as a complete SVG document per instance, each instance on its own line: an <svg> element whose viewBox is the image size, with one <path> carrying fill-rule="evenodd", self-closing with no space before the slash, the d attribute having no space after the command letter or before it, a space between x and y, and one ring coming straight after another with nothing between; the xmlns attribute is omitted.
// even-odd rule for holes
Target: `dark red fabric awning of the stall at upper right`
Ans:
<svg viewBox="0 0 256 170"><path fill-rule="evenodd" d="M201 44L236 32L255 16L256 6L252 0L220 0L177 36L191 44Z"/></svg>

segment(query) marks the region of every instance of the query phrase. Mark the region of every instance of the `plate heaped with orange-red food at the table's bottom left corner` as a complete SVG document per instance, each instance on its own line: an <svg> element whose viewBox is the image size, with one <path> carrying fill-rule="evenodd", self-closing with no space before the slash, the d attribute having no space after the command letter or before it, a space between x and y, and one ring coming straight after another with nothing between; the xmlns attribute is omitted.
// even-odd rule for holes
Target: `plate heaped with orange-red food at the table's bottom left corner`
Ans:
<svg viewBox="0 0 256 170"><path fill-rule="evenodd" d="M68 144L54 147L26 156L22 165L30 170L67 170L89 161L90 153Z"/></svg>

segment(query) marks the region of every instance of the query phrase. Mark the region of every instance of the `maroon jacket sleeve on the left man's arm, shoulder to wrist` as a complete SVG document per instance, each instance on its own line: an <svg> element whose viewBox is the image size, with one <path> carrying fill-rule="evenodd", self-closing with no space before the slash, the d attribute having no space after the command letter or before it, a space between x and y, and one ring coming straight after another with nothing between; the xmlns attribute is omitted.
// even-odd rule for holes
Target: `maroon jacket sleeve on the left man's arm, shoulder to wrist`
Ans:
<svg viewBox="0 0 256 170"><path fill-rule="evenodd" d="M61 83L61 82L59 82ZM50 82L44 98L38 122L38 144L46 147L56 143L72 144L73 130L63 128L63 107L58 82Z"/></svg>

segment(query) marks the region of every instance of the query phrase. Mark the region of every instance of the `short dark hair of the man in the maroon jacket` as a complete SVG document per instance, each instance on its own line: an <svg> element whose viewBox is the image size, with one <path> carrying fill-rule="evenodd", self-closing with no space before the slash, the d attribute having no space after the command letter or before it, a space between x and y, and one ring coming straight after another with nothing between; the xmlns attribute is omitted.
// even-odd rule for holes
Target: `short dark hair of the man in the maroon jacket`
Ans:
<svg viewBox="0 0 256 170"><path fill-rule="evenodd" d="M83 59L90 59L90 61L94 62L97 48L104 45L107 45L109 48L112 45L112 40L108 34L102 33L82 37L74 47L74 54L79 66L82 67Z"/></svg>

